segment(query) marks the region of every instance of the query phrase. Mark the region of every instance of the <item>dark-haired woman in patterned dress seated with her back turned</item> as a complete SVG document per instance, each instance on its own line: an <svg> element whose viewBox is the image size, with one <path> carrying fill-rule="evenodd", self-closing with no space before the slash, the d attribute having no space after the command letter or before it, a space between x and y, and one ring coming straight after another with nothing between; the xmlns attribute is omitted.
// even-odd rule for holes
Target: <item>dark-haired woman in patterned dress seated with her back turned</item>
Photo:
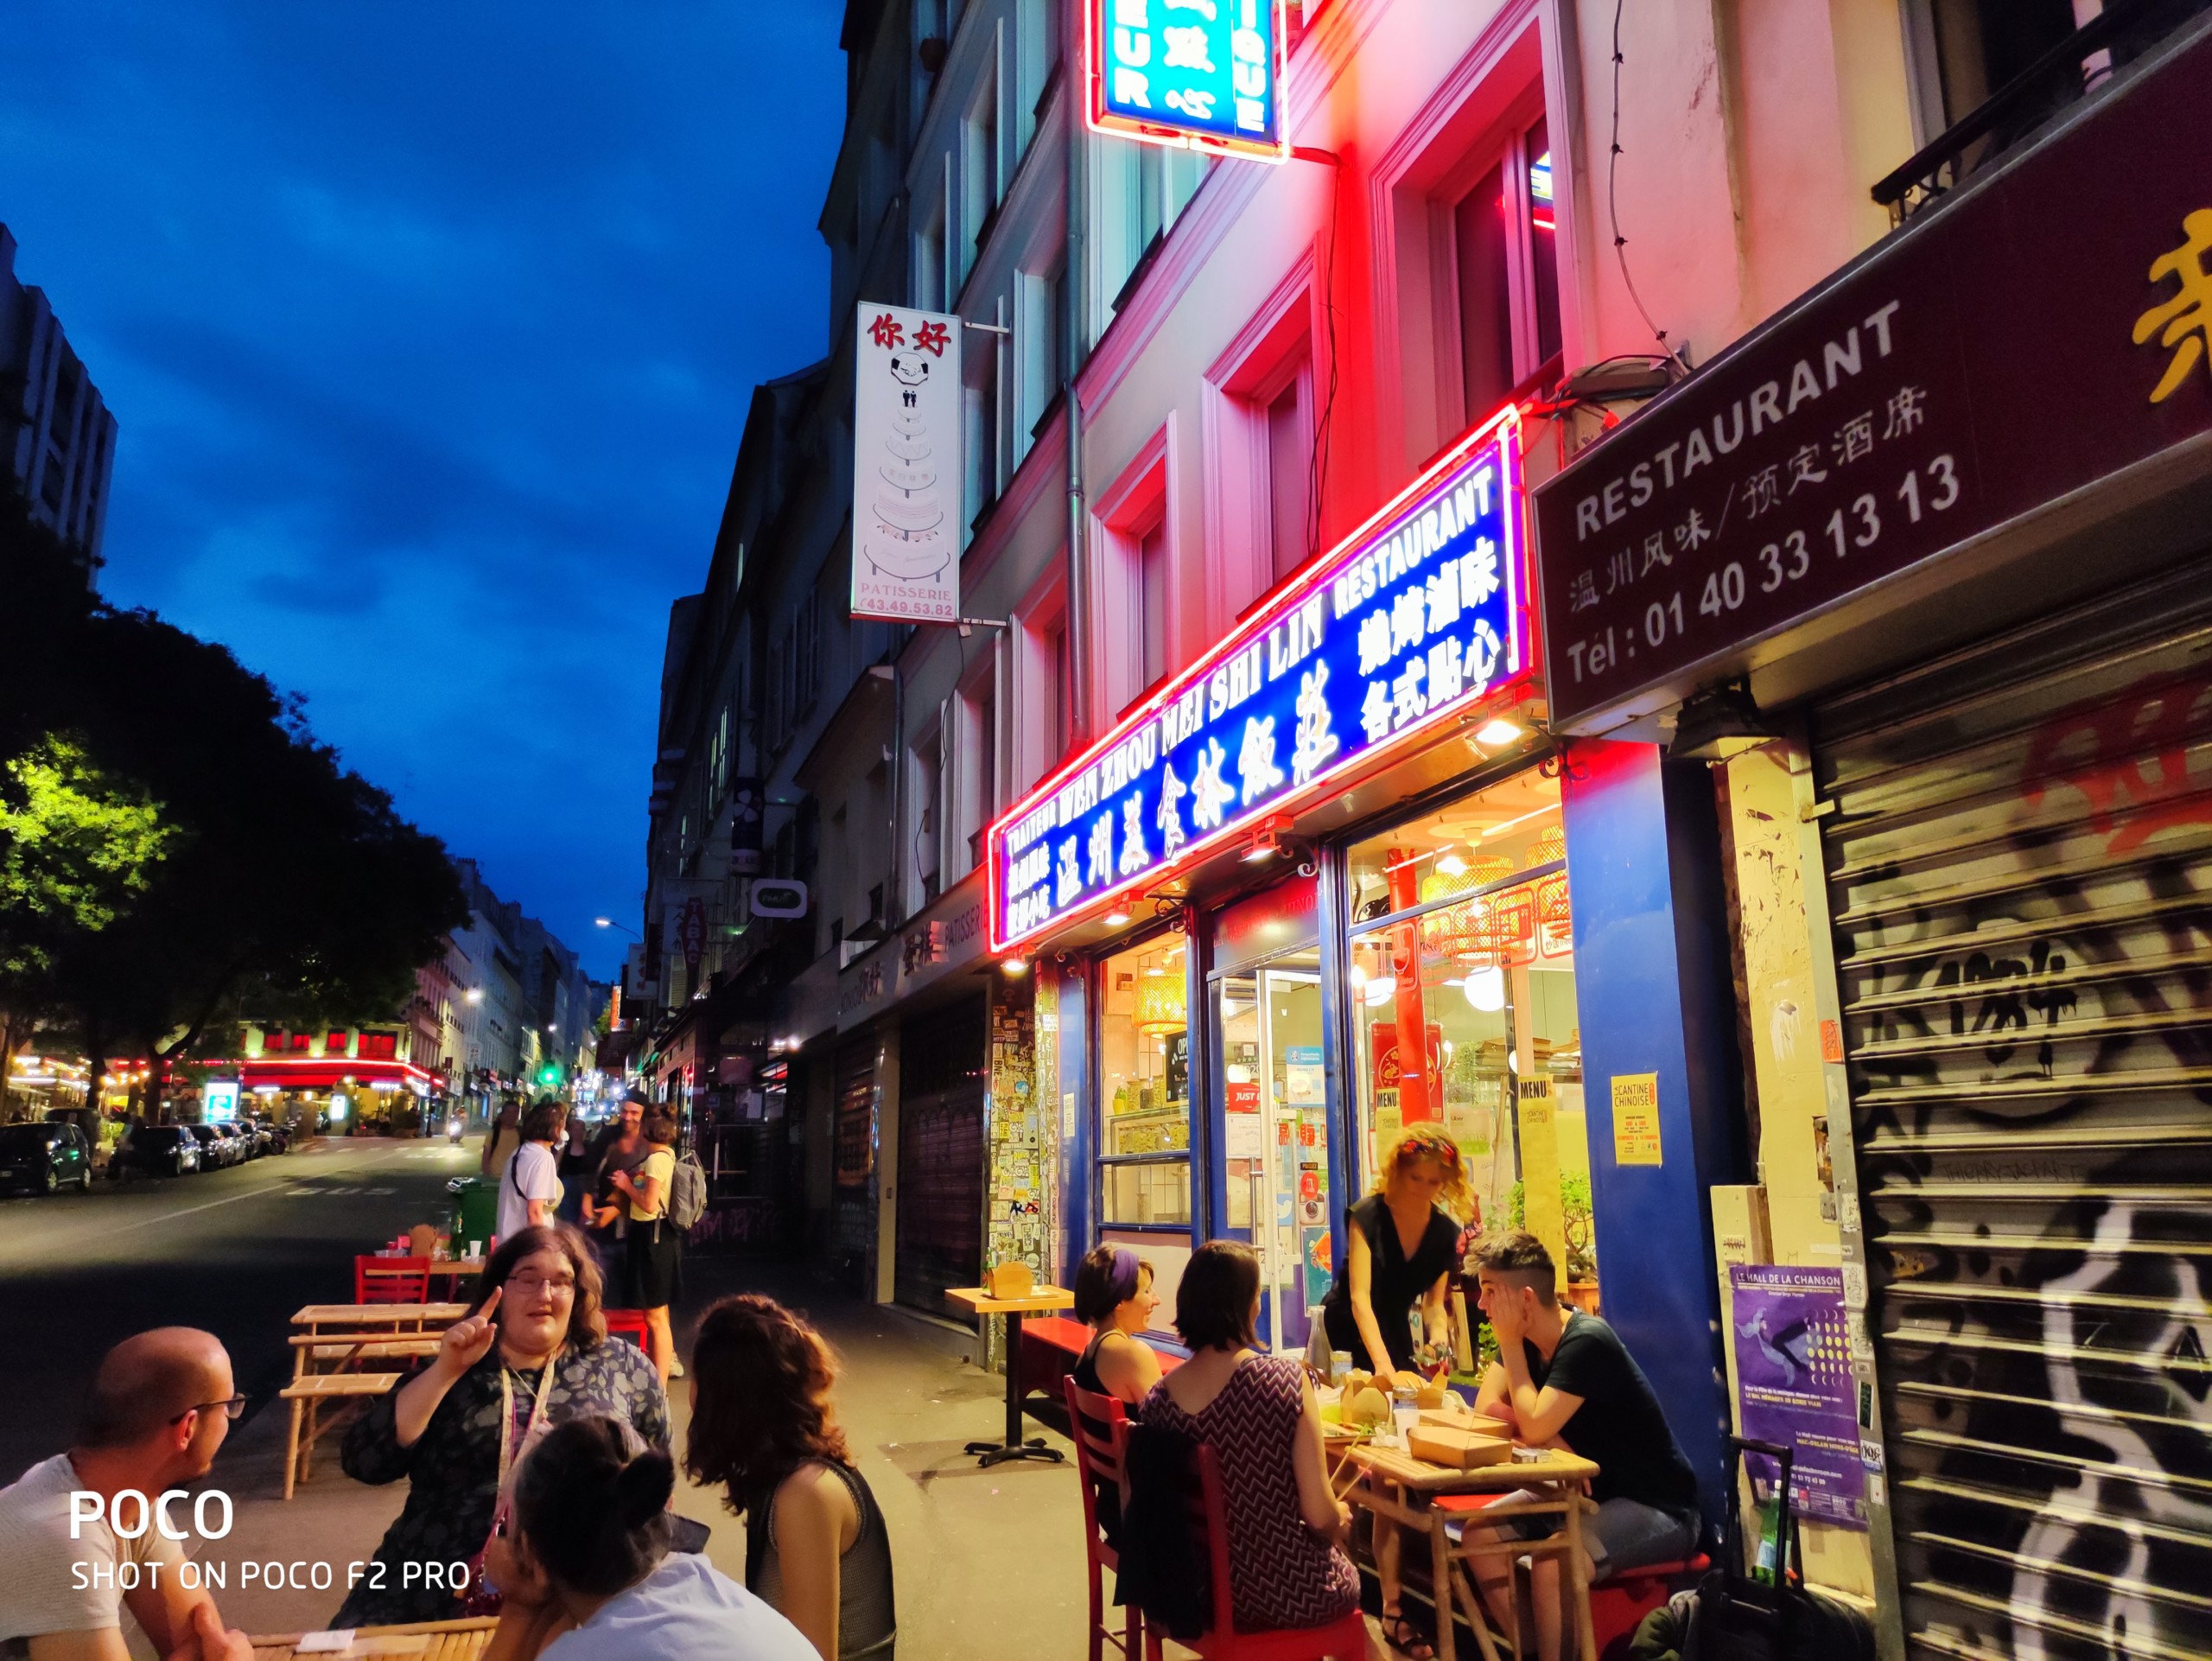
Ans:
<svg viewBox="0 0 2212 1661"><path fill-rule="evenodd" d="M1190 1360L1144 1398L1144 1422L1181 1431L1221 1460L1237 1626L1327 1626L1360 1601L1360 1575L1343 1553L1352 1511L1329 1488L1305 1367L1261 1356L1256 1323L1252 1247L1208 1241L1192 1252L1175 1292L1175 1329Z"/></svg>

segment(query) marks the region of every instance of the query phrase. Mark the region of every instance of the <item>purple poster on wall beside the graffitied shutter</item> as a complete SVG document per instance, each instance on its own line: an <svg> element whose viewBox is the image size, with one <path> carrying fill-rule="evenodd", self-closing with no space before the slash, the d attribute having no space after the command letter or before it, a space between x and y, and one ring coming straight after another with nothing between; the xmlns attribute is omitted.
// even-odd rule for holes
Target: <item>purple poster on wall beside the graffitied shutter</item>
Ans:
<svg viewBox="0 0 2212 1661"><path fill-rule="evenodd" d="M1865 1528L1843 1270L1736 1263L1728 1278L1743 1435L1796 1449L1790 1502L1798 1517Z"/></svg>

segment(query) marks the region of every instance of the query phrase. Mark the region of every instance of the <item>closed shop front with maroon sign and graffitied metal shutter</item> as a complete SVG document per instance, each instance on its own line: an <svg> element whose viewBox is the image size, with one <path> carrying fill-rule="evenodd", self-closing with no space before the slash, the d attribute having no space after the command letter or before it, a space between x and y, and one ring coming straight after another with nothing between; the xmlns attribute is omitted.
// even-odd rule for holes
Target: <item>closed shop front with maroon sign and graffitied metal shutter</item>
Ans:
<svg viewBox="0 0 2212 1661"><path fill-rule="evenodd" d="M1537 491L1555 725L1714 763L1714 1270L1834 1283L1807 1561L1885 1654L2212 1648L2208 77L2139 55Z"/></svg>

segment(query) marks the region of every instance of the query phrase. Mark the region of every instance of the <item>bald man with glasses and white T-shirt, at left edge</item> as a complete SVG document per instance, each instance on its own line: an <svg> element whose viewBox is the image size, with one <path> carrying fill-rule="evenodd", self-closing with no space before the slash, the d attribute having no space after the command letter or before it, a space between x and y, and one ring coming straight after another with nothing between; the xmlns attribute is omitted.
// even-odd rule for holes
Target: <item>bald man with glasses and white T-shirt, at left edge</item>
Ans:
<svg viewBox="0 0 2212 1661"><path fill-rule="evenodd" d="M230 1356L215 1334L157 1327L111 1349L84 1398L77 1444L0 1488L0 1657L13 1661L128 1661L122 1606L170 1661L252 1661L243 1632L226 1632L215 1599L188 1590L175 1539L148 1519L137 1539L108 1528L115 1495L148 1502L204 1477L246 1398L232 1393ZM100 1522L77 1522L73 1493L97 1493ZM135 1522L137 1504L124 1522ZM170 1506L184 1522L188 1508ZM131 1581L128 1588L117 1581Z"/></svg>

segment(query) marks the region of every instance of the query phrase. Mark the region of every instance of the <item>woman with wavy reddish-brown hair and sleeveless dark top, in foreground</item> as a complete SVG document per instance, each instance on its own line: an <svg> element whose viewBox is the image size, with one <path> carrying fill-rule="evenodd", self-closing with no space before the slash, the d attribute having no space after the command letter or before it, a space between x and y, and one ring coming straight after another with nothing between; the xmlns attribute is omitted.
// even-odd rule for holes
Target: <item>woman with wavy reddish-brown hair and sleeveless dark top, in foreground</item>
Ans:
<svg viewBox="0 0 2212 1661"><path fill-rule="evenodd" d="M823 1661L891 1661L891 1535L836 1422L830 1345L741 1292L699 1320L690 1378L684 1469L745 1519L745 1586Z"/></svg>

